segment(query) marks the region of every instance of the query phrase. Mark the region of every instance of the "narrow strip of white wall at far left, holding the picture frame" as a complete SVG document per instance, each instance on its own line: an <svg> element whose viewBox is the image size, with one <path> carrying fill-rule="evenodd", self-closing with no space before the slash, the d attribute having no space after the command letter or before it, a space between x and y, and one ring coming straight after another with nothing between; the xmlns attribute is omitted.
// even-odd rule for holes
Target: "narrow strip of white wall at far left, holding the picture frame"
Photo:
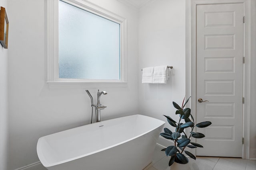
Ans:
<svg viewBox="0 0 256 170"><path fill-rule="evenodd" d="M7 1L0 1L8 13ZM7 169L8 157L8 49L0 45L0 170Z"/></svg>

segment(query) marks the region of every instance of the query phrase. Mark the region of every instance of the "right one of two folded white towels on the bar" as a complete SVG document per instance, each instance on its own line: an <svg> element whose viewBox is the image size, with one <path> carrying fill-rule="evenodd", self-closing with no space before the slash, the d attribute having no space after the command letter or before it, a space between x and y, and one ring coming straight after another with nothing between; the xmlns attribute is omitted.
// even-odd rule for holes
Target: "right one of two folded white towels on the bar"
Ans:
<svg viewBox="0 0 256 170"><path fill-rule="evenodd" d="M170 77L168 66L155 66L153 74L153 83L166 84Z"/></svg>

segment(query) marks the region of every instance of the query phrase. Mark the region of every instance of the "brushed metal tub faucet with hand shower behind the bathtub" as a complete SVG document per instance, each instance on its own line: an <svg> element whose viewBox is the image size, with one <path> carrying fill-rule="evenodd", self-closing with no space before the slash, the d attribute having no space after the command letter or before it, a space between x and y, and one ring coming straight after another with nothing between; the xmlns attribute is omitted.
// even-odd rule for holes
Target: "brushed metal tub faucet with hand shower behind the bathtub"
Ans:
<svg viewBox="0 0 256 170"><path fill-rule="evenodd" d="M101 110L101 109L105 109L105 108L107 107L107 106L102 106L102 105L100 104L100 96L101 96L102 94L106 95L106 94L108 94L108 93L105 92L105 91L100 92L100 90L98 90L98 93L97 93L97 104L94 105L94 104L93 104L93 98L92 98L92 95L90 94L89 90L85 90L85 91L86 91L86 93L88 94L88 96L89 96L90 99L91 99L92 115L93 115L93 107L95 107L96 122L98 122L98 121L100 121L100 110ZM92 118L91 118L91 123L92 123Z"/></svg>

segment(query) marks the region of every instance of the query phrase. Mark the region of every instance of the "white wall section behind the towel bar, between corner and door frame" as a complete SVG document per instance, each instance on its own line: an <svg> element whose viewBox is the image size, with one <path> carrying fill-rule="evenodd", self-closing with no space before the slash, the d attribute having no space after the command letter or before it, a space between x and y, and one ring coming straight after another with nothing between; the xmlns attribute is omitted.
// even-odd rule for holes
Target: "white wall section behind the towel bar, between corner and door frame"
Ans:
<svg viewBox="0 0 256 170"><path fill-rule="evenodd" d="M141 68L173 66L167 84L142 84ZM185 96L185 0L158 0L139 12L139 110L166 121ZM166 127L170 125L166 123Z"/></svg>

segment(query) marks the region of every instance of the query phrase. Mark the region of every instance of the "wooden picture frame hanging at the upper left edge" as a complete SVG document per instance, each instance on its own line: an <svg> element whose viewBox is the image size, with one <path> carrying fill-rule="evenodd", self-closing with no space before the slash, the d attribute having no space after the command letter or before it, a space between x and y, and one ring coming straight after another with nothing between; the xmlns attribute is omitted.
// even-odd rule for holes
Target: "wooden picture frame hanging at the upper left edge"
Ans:
<svg viewBox="0 0 256 170"><path fill-rule="evenodd" d="M6 10L1 6L0 8L0 43L2 46L8 48L8 28L9 21L7 18Z"/></svg>

